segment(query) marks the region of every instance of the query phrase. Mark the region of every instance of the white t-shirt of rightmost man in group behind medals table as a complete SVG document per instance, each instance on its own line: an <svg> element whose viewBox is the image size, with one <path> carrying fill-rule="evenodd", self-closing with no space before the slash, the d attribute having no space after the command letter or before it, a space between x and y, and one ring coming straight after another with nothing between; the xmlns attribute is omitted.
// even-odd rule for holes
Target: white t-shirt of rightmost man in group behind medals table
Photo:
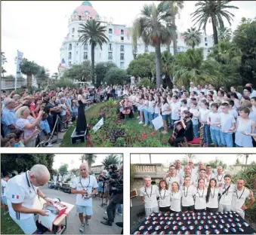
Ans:
<svg viewBox="0 0 256 235"><path fill-rule="evenodd" d="M243 188L239 191L236 187L232 194L231 209L235 212L244 212L241 207L245 205L246 198L249 199L250 191L247 188Z"/></svg>

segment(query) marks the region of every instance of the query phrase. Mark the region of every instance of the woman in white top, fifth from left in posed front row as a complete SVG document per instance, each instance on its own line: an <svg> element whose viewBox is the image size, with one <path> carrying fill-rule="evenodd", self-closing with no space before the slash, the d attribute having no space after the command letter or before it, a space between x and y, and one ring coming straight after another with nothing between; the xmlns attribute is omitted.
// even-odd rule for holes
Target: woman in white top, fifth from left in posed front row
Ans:
<svg viewBox="0 0 256 235"><path fill-rule="evenodd" d="M205 180L199 179L198 188L195 197L195 211L203 212L206 209L206 194L207 188L205 188Z"/></svg>

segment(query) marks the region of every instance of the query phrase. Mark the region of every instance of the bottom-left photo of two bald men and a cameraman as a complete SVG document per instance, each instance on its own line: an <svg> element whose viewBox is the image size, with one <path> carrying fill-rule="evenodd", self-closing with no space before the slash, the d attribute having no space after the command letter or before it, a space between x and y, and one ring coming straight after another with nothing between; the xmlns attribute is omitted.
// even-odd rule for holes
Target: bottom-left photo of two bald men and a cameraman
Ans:
<svg viewBox="0 0 256 235"><path fill-rule="evenodd" d="M120 234L123 154L2 154L2 234Z"/></svg>

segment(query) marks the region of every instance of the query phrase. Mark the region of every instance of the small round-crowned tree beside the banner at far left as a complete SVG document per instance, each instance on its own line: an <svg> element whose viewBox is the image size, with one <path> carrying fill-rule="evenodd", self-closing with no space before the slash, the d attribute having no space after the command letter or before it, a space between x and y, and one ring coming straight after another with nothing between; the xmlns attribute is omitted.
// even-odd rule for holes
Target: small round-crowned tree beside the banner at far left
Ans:
<svg viewBox="0 0 256 235"><path fill-rule="evenodd" d="M37 75L40 71L40 66L33 62L24 58L20 63L21 72L26 75L26 83L27 87L32 87L32 75Z"/></svg>

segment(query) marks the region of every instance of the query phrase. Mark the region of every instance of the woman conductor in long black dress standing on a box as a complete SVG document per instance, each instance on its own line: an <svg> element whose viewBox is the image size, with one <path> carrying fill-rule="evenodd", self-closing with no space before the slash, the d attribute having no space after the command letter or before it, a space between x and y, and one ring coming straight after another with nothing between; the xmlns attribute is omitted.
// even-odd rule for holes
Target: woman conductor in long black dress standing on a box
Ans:
<svg viewBox="0 0 256 235"><path fill-rule="evenodd" d="M90 101L88 99L83 99L82 93L83 93L83 89L81 87L79 88L79 95L77 97L79 102L79 111L78 111L78 117L76 122L76 135L83 135L87 128L86 118L85 118L85 104L89 103Z"/></svg>

